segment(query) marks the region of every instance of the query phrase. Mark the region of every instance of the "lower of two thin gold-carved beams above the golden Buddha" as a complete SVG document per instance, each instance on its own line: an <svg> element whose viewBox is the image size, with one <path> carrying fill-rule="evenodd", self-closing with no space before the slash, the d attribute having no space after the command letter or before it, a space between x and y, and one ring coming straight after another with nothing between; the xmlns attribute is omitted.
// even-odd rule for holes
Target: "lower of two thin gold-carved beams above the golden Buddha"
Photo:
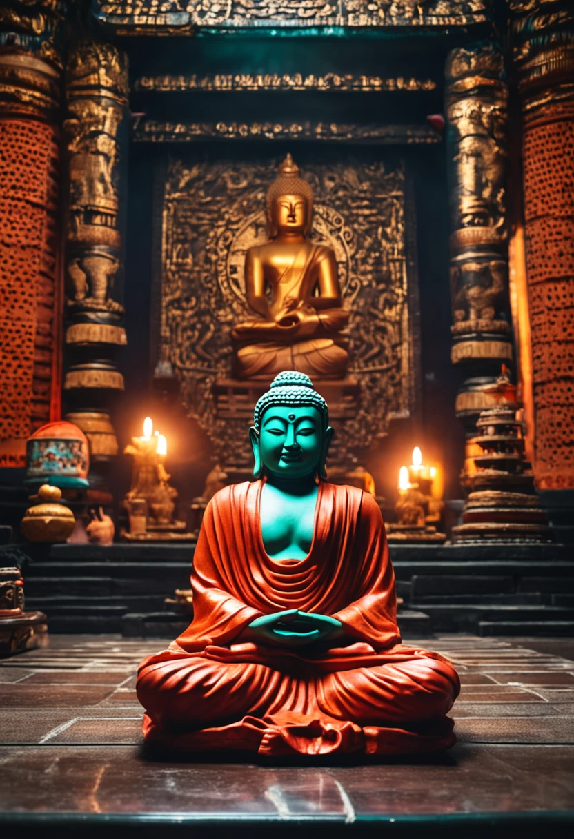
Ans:
<svg viewBox="0 0 574 839"><path fill-rule="evenodd" d="M189 143L193 140L366 140L381 144L440 143L430 125L354 125L342 122L158 122L140 119L134 140L140 143Z"/></svg>

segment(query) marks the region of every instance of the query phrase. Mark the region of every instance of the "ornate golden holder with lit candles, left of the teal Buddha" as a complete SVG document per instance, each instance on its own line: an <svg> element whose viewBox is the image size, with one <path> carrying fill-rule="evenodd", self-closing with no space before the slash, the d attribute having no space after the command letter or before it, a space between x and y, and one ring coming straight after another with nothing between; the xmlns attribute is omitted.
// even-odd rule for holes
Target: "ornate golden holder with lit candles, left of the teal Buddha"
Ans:
<svg viewBox="0 0 574 839"><path fill-rule="evenodd" d="M128 513L128 530L122 529L123 542L189 542L194 534L186 531L185 521L174 518L177 490L170 486L165 471L167 447L163 435L152 435L149 417L143 424L143 436L132 437L123 450L133 456L132 485L123 508Z"/></svg>

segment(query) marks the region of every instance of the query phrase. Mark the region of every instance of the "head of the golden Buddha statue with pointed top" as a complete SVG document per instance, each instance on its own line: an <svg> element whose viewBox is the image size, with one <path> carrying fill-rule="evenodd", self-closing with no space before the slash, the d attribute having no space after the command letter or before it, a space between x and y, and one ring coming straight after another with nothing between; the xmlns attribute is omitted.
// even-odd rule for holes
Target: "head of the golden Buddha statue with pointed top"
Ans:
<svg viewBox="0 0 574 839"><path fill-rule="evenodd" d="M267 224L269 239L279 232L301 233L310 231L313 216L313 190L299 176L299 166L290 154L279 166L279 175L267 191Z"/></svg>

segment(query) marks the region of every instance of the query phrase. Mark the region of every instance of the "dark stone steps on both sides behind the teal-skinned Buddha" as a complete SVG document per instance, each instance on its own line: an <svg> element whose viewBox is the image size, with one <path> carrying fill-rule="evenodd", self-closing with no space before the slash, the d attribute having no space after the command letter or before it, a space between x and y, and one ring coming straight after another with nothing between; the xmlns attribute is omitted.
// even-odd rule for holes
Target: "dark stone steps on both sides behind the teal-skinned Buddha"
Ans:
<svg viewBox="0 0 574 839"><path fill-rule="evenodd" d="M48 616L51 633L175 638L190 618L164 601L189 588L193 552L193 544L26 545L14 561L27 607ZM571 545L392 545L391 559L404 638L574 635Z"/></svg>

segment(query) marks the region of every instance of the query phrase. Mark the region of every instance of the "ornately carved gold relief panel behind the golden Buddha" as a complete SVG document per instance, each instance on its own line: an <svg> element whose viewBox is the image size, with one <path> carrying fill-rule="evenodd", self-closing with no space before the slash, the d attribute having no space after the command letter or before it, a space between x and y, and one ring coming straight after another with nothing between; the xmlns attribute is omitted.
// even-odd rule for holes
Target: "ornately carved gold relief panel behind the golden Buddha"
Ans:
<svg viewBox="0 0 574 839"><path fill-rule="evenodd" d="M180 378L185 408L226 464L249 462L246 420L217 419L213 388L231 378L232 327L252 316L243 266L248 248L267 241L264 199L278 164L174 158L165 183L159 356ZM391 418L408 417L414 402L404 164L301 166L315 195L311 240L334 251L350 313L357 409L345 424L348 439L337 444L343 451L354 439L366 449Z"/></svg>

